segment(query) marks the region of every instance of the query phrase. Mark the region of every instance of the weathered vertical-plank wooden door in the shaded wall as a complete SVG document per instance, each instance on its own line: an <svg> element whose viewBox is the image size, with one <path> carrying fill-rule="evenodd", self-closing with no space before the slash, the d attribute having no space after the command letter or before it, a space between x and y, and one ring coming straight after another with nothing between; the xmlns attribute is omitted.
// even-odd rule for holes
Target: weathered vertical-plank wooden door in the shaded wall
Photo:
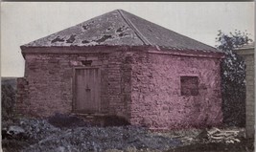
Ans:
<svg viewBox="0 0 256 152"><path fill-rule="evenodd" d="M100 111L99 68L75 70L75 111L98 113Z"/></svg>

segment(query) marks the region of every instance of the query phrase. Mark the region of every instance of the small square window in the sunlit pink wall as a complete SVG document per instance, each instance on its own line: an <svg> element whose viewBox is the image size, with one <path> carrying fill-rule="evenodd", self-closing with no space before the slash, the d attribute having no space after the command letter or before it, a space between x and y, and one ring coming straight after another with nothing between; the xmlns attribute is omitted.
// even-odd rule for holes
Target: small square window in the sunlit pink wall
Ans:
<svg viewBox="0 0 256 152"><path fill-rule="evenodd" d="M180 76L181 96L198 96L198 76Z"/></svg>

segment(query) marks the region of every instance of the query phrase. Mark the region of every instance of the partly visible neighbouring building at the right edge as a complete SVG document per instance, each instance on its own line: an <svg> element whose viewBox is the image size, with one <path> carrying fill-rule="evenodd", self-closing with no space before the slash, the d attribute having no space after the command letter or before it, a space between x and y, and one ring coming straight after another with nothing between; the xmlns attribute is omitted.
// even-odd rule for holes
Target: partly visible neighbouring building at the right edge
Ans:
<svg viewBox="0 0 256 152"><path fill-rule="evenodd" d="M255 43L244 45L235 52L244 57L246 65L246 100L245 100L245 129L246 137L252 138L255 135L255 58L254 58Z"/></svg>

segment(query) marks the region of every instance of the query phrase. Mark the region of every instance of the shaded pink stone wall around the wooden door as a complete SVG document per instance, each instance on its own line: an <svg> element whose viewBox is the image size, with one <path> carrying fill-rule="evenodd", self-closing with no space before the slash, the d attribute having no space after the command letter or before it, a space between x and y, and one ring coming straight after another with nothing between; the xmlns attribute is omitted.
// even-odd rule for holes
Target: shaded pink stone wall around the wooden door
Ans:
<svg viewBox="0 0 256 152"><path fill-rule="evenodd" d="M19 113L35 117L72 113L73 68L84 66L82 60L92 60L92 66L101 67L101 113L128 118L131 68L125 60L126 53L25 56L25 76L18 84Z"/></svg>

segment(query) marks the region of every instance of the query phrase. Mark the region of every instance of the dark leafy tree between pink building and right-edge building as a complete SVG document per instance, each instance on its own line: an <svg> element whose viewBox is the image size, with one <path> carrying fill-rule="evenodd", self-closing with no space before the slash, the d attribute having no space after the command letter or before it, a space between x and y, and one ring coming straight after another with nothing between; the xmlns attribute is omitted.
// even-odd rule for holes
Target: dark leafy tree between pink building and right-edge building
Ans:
<svg viewBox="0 0 256 152"><path fill-rule="evenodd" d="M217 48L225 57L221 61L221 94L223 122L227 125L245 124L245 63L244 58L234 53L234 49L252 41L248 33L219 31Z"/></svg>

